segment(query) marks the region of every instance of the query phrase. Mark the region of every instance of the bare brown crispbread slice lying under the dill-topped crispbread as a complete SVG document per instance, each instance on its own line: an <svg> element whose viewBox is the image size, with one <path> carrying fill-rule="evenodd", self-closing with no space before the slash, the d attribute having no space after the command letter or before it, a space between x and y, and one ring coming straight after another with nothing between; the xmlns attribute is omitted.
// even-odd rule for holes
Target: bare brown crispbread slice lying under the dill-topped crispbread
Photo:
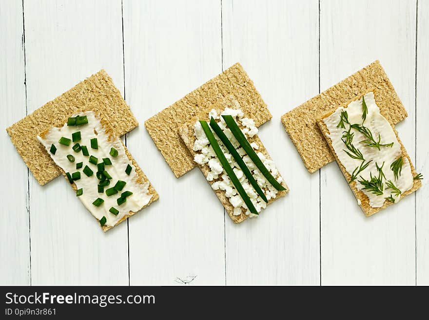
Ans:
<svg viewBox="0 0 429 320"><path fill-rule="evenodd" d="M379 89L378 106L390 124L408 116L378 60L282 115L283 126L310 173L335 159L317 126L317 119L371 88Z"/></svg>

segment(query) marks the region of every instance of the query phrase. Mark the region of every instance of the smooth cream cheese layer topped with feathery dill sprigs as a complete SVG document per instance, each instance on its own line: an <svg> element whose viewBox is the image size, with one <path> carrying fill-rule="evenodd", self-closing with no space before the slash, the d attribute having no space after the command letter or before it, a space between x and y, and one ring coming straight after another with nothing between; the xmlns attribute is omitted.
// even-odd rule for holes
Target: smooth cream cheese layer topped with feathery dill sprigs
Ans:
<svg viewBox="0 0 429 320"><path fill-rule="evenodd" d="M385 201L398 202L401 194L412 188L413 177L408 158L402 155L395 132L381 115L374 93L365 94L364 100L365 104L361 98L347 108L338 108L323 121L356 188L368 196L371 207L382 207Z"/></svg>

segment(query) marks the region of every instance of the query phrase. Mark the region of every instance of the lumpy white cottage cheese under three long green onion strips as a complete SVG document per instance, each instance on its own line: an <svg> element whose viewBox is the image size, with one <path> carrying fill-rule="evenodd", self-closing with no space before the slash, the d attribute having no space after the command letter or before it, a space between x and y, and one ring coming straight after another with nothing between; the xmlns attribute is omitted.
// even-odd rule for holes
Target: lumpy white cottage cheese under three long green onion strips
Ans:
<svg viewBox="0 0 429 320"><path fill-rule="evenodd" d="M230 142L232 143L232 145L234 146L238 154L242 157L248 169L253 174L254 179L256 180L257 184L264 192L265 196L267 197L267 200L275 198L278 191L270 184L270 182L268 182L268 180L264 177L261 171L256 168L256 166L254 165L254 162L251 160L249 155L247 155L246 151L244 151L244 149L240 147L240 144L235 139L231 130L227 128L225 120L221 117L221 115L233 116L235 122L237 122L240 128L243 128L241 129L241 131L245 135L246 139L254 137L254 135L258 133L258 129L254 124L254 120L251 118L244 117L244 113L240 109L225 108L225 110L221 114L217 114L215 109L212 109L209 113L209 119L213 117L216 120L220 129L228 137L228 139L230 140ZM217 140L217 143L219 144L229 164L233 168L235 175L237 176L239 182L241 183L245 192L247 193L250 200L252 201L256 211L259 213L263 208L266 207L267 204L256 193L252 185L249 183L249 180L246 178L245 174L240 169L239 165L235 162L234 157L231 155L228 149L223 145L223 143L220 141L220 139L213 131L213 129L210 129L210 130L212 130ZM220 164L215 154L215 151L213 150L212 146L210 146L209 140L207 139L207 136L204 133L199 121L195 122L194 135L196 137L196 140L194 143L193 150L199 151L195 154L194 161L199 165L205 165L210 168L210 171L207 175L207 180L215 181L212 183L212 188L214 190L225 191L225 196L229 199L229 202L234 207L234 215L240 215L243 209L246 215L250 215L251 217L257 216L250 212L250 210L244 203L243 199L238 194L236 188L234 187L234 184L232 183L231 179L228 177L228 174ZM257 143L252 142L251 146L255 150L257 156L259 157L259 159L261 159L265 167L271 172L273 177L277 180L277 182L281 183L283 181L283 178L280 176L277 168L275 167L273 160L267 158L262 152L257 151L260 147L258 146Z"/></svg>

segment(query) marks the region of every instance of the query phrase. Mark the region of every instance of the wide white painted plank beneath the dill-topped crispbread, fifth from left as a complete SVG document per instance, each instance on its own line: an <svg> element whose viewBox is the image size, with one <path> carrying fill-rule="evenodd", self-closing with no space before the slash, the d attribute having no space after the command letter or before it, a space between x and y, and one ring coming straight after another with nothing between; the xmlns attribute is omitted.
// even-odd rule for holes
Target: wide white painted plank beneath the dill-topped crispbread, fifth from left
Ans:
<svg viewBox="0 0 429 320"><path fill-rule="evenodd" d="M415 1L321 1L325 90L379 59L408 111L396 126L414 161ZM322 284L414 284L414 196L366 218L336 163L321 169Z"/></svg>

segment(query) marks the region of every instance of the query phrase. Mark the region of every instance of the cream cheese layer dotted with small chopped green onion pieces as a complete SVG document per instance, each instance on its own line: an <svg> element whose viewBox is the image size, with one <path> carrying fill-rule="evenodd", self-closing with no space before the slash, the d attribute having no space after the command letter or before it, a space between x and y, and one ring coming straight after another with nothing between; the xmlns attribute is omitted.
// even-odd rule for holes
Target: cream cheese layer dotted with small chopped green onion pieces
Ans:
<svg viewBox="0 0 429 320"><path fill-rule="evenodd" d="M137 212L149 203L152 198L152 195L148 193L149 182L141 183L141 181L139 181L140 179L137 175L136 168L128 159L122 142L118 137L106 133L105 128L94 112L87 111L84 113L77 113L73 116L77 115L86 115L88 123L78 126L68 126L64 124L61 128L53 127L45 134L42 134L43 137L38 136L37 138L61 169L68 172L70 175L79 172L80 178L75 180L74 183L78 189L82 189L83 193L79 195L78 198L83 205L98 220L102 220L103 217L105 217L106 226L115 226L124 215L129 214L130 211ZM75 132L80 132L80 139L75 139L75 141L73 141L72 134ZM72 140L70 145L66 146L60 144L59 139L61 137ZM91 147L91 139L94 138L97 138L98 149ZM83 155L81 150L76 152L72 149L77 143L80 146L86 146L89 156ZM56 148L55 154L51 152L52 145ZM117 151L116 156L110 154L112 148ZM73 156L74 161L71 162L67 155ZM103 163L103 158L107 158L111 162L111 165L104 165L111 179L110 184L103 188L103 192L99 192L101 190L98 189L98 184L100 182L96 174L98 166L97 164L89 162L90 156L96 157L97 163ZM82 166L77 169L77 165L80 162L82 162ZM109 163L107 160L106 162ZM92 175L87 176L84 173L84 168L86 166L93 171ZM126 171L129 172L129 174L127 174ZM117 191L117 193L108 196L106 190L108 188L113 188L118 181L125 182L125 186L120 191ZM127 196L126 201L119 205L117 199L121 197L121 194L125 191L131 191L132 194ZM97 207L93 202L98 198L104 200L104 202ZM116 209L112 209L112 211L115 213L118 211L117 214L109 211L112 207Z"/></svg>

